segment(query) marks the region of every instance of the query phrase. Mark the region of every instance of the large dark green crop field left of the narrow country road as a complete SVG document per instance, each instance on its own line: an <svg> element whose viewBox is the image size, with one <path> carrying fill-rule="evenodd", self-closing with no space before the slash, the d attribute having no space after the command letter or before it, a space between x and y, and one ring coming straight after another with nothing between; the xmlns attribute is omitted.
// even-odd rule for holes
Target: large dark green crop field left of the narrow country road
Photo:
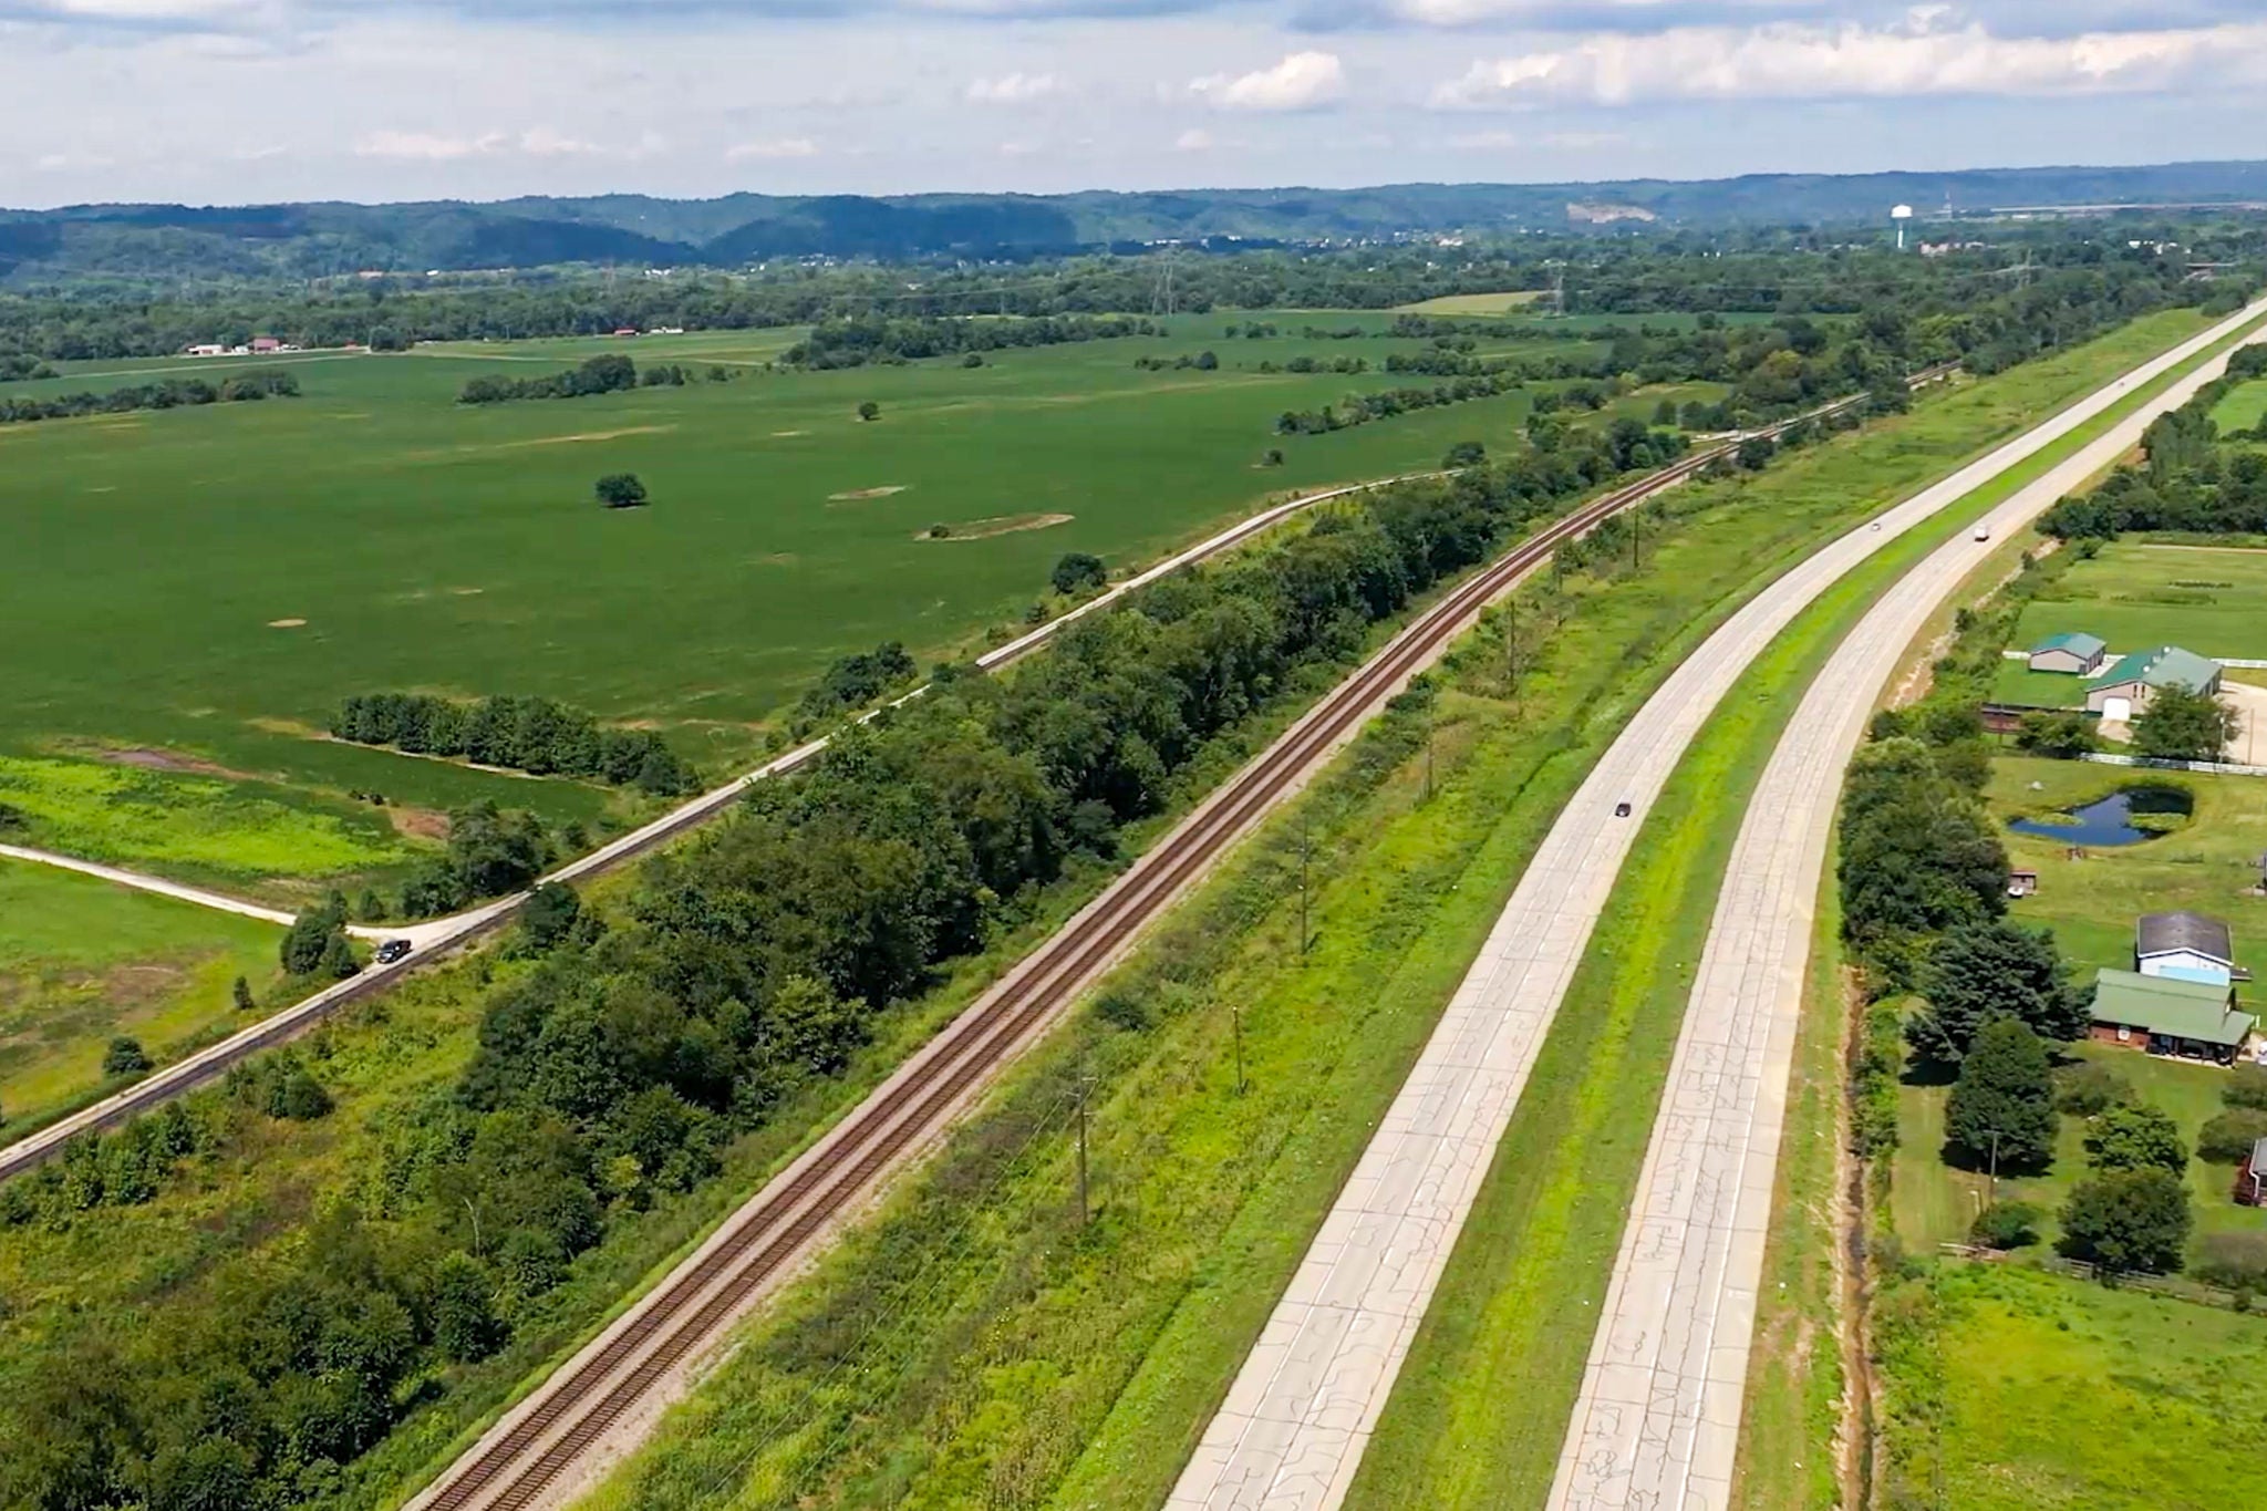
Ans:
<svg viewBox="0 0 2267 1511"><path fill-rule="evenodd" d="M766 369L798 331L75 365L11 392L279 367L302 396L0 428L11 485L0 598L16 625L0 754L77 766L88 752L145 752L156 788L195 766L340 802L490 797L555 820L621 820L623 800L580 784L320 732L356 691L544 693L657 725L710 772L728 770L834 657L884 639L923 661L979 648L986 628L1022 621L1065 550L1124 569L1288 489L1426 469L1458 439L1514 437L1523 394L1331 435L1272 433L1288 408L1430 383L1383 372L1390 351L1419 342L1304 335L1392 319L1179 317L1163 338L1002 351L975 369ZM1226 338L1247 322L1281 333ZM1566 349L1505 322L1480 351L1521 342ZM1215 372L1134 367L1206 349ZM456 403L467 378L601 351L737 378ZM1299 356L1358 356L1372 372L1258 372ZM1625 403L1650 412L1662 396L1714 394ZM875 424L857 419L864 401L882 406ZM1281 467L1260 464L1270 449ZM592 483L610 471L635 471L651 507L596 507ZM929 539L939 523L950 535ZM61 804L18 802L48 825L41 840L75 843L52 816ZM113 840L113 859L184 861ZM356 856L347 874L385 863Z"/></svg>

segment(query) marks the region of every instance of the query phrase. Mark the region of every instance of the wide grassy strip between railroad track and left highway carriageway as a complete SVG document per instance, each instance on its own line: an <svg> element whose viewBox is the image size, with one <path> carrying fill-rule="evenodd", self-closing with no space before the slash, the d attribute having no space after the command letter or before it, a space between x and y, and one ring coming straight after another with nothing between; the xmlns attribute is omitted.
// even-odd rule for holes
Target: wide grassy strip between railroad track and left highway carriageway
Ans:
<svg viewBox="0 0 2267 1511"><path fill-rule="evenodd" d="M1635 700L1780 562L2174 335L2129 333L2122 349L2063 372L2052 396L1968 390L1786 462L1750 485L1746 507L1718 505L1732 512L1675 535L1659 569L1614 596L1637 598L1614 612L1614 634L1637 639L1562 632L1542 652L1587 680L1551 707L1578 707L1560 700L1580 686L1605 700L1578 734L1467 702L1467 680L1449 695L1464 714L1437 739L1430 806L1410 806L1421 786L1412 759L1392 777L1360 777L1376 784L1369 793L1347 793L1356 777L1340 775L1313 800L1315 874L1331 881L1315 899L1322 945L1304 965L1285 895L1297 872L1290 816L1109 988L1163 1004L1152 1026L1131 1035L1088 1022L1034 1060L939 1171L753 1328L601 1502L712 1504L746 1482L739 1504L805 1493L837 1504L1154 1504L1523 856ZM1709 503L1693 489L1678 510ZM1748 535L1757 526L1775 535L1771 546ZM1480 666L1496 657L1501 646L1476 652ZM1233 1006L1254 1067L1242 1099L1226 1094ZM1059 1133L1061 1078L1081 1056L1102 1076L1093 1155L1109 1192L1088 1230L1065 1226ZM1047 1130L1043 1155L1025 1167L1016 1153L1034 1128ZM970 1192L986 1196L975 1214Z"/></svg>

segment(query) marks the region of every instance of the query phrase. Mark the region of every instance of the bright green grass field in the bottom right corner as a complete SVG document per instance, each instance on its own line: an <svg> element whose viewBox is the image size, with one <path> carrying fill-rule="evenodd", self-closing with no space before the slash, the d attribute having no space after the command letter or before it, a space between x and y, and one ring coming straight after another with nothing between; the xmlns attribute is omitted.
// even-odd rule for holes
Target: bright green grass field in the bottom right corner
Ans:
<svg viewBox="0 0 2267 1511"><path fill-rule="evenodd" d="M1882 1305L1884 1504L2224 1511L2256 1497L2267 1321L1981 1264Z"/></svg>

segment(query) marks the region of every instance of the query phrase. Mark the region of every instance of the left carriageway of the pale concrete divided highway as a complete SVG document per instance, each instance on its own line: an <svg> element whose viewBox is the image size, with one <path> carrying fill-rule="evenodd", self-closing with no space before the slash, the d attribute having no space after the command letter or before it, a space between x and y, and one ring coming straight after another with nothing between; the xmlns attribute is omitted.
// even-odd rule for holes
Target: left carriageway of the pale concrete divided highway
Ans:
<svg viewBox="0 0 2267 1511"><path fill-rule="evenodd" d="M1521 874L1183 1468L1168 1511L1328 1511L1344 1500L1623 856L1687 745L1748 664L1818 594L1904 530L2262 310L2267 304L2133 369L1827 544L1669 675ZM1623 802L1632 813L1616 818Z"/></svg>

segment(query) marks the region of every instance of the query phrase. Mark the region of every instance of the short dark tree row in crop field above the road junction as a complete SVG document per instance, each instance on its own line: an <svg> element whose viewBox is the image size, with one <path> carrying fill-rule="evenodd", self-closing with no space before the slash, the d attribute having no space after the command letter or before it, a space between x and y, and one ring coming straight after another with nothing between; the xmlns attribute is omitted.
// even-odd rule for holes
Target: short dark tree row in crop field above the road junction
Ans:
<svg viewBox="0 0 2267 1511"><path fill-rule="evenodd" d="M460 702L431 693L356 693L338 705L331 734L356 745L392 745L537 777L637 786L653 797L701 788L698 772L653 729L610 729L551 698Z"/></svg>

